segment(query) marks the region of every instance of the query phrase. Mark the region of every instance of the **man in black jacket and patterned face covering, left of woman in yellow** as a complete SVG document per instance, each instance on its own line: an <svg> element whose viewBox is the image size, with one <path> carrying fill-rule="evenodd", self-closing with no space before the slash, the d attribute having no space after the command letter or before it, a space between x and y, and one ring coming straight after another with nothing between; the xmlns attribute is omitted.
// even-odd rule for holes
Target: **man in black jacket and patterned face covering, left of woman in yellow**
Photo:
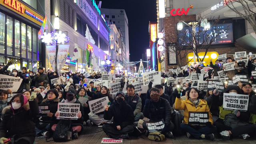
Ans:
<svg viewBox="0 0 256 144"><path fill-rule="evenodd" d="M167 138L172 138L172 130L174 129L174 124L171 122L171 106L169 102L161 98L160 91L157 88L150 89L150 98L145 102L143 115L150 118L150 121L164 120L164 128L162 129L162 134ZM146 129L146 136L148 136L148 128L146 122L142 124L143 128Z"/></svg>

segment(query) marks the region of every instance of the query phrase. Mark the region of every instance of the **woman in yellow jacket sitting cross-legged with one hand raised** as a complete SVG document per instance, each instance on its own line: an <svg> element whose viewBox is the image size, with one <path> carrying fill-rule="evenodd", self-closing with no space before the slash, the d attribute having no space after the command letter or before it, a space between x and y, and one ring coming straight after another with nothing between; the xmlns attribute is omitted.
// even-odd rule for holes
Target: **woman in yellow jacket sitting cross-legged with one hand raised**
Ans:
<svg viewBox="0 0 256 144"><path fill-rule="evenodd" d="M184 121L182 124L180 124L180 128L187 133L188 138L190 138L190 136L192 135L198 139L201 137L207 140L214 141L214 133L217 131L217 128L212 125L212 114L210 113L210 108L207 105L207 102L198 98L199 93L199 90L197 90L196 88L190 88L190 90L188 90L188 98L186 100L181 100L180 94L178 94L178 90L175 89L175 108L178 110L184 110ZM189 112L209 112L209 119L205 120L205 126L200 126L199 124L189 125ZM190 115L192 116L192 114ZM194 116L196 117L196 114Z"/></svg>

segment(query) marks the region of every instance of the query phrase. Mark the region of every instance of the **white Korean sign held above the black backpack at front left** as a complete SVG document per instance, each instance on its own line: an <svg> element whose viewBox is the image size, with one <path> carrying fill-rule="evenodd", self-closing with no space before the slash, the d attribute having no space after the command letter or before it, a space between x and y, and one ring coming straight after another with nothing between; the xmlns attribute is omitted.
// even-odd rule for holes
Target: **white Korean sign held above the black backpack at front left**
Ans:
<svg viewBox="0 0 256 144"><path fill-rule="evenodd" d="M59 102L57 112L60 113L57 119L77 120L77 114L80 112L80 104Z"/></svg>

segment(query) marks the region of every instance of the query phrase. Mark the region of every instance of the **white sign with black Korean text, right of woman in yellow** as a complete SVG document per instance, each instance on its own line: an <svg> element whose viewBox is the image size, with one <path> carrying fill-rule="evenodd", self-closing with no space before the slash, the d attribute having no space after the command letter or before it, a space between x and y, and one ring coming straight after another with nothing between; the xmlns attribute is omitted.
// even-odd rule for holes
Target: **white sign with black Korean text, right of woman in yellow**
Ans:
<svg viewBox="0 0 256 144"><path fill-rule="evenodd" d="M248 110L249 96L244 94L223 94L223 109L224 110Z"/></svg>

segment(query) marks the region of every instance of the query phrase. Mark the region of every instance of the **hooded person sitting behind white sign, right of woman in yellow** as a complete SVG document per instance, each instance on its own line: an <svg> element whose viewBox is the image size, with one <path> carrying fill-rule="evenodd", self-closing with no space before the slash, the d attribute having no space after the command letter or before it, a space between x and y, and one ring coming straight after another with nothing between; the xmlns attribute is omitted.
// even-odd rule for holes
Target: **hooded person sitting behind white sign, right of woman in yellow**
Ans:
<svg viewBox="0 0 256 144"><path fill-rule="evenodd" d="M246 86L246 89L249 86ZM229 93L229 94L242 94L241 89L237 85L229 85L224 93ZM250 105L251 100L249 98L248 104ZM219 102L218 106L220 106L220 118L214 122L214 126L217 127L217 132L220 133L220 135L229 140L230 136L232 135L233 137L237 137L239 135L242 136L242 138L246 139L249 138L250 133L253 133L255 130L255 127L252 124L249 124L251 112L250 109L248 108L247 111L239 111L239 110L224 110L223 109L223 93L220 94L219 96ZM248 106L249 107L249 106ZM236 120L234 124L230 123L230 120L227 120L226 118L232 118L233 120ZM224 122L225 120L225 122ZM228 126L226 124L229 124Z"/></svg>

